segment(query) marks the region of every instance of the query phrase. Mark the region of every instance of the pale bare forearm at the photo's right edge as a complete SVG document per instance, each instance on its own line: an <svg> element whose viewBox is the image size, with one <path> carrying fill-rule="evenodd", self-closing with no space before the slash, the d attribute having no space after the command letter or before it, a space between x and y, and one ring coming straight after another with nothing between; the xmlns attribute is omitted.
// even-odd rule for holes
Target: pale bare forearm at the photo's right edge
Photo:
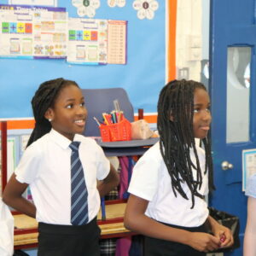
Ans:
<svg viewBox="0 0 256 256"><path fill-rule="evenodd" d="M248 197L247 201L247 226L243 241L243 255L256 255L256 198Z"/></svg>

